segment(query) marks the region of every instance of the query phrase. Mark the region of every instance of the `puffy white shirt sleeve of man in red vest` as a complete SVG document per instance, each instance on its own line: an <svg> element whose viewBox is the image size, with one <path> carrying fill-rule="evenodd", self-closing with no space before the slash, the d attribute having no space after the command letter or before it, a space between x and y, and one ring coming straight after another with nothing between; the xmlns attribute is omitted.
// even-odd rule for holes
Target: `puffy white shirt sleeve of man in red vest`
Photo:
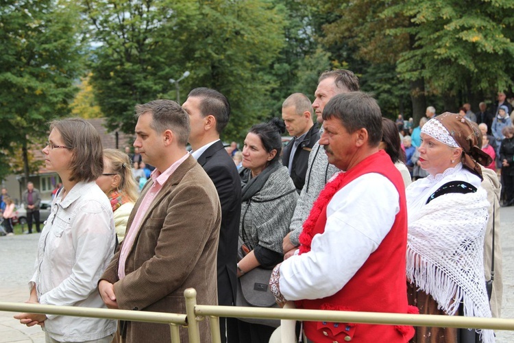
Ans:
<svg viewBox="0 0 514 343"><path fill-rule="evenodd" d="M389 233L400 211L393 183L376 173L356 178L334 194L325 231L310 252L280 265L280 292L287 300L318 299L339 292Z"/></svg>

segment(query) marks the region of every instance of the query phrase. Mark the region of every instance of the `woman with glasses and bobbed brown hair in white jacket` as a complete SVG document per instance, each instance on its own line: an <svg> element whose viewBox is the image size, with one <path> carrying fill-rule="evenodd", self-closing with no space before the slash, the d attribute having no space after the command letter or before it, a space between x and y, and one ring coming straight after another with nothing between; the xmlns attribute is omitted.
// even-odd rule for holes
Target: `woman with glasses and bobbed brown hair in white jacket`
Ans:
<svg viewBox="0 0 514 343"><path fill-rule="evenodd" d="M106 308L97 283L114 251L112 209L95 180L103 172L99 134L83 119L50 123L45 165L62 180L42 229L27 303ZM44 325L47 343L108 343L114 320L45 314L14 316L21 324Z"/></svg>

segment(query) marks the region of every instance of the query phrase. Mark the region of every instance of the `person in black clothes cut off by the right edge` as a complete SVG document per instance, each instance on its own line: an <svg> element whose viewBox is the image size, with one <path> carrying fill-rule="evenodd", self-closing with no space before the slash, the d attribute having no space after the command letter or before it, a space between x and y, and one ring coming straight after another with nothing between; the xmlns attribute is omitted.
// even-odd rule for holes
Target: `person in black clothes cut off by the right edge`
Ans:
<svg viewBox="0 0 514 343"><path fill-rule="evenodd" d="M506 126L502 130L504 139L500 145L500 162L502 163L502 180L504 187L504 206L514 205L514 128Z"/></svg>

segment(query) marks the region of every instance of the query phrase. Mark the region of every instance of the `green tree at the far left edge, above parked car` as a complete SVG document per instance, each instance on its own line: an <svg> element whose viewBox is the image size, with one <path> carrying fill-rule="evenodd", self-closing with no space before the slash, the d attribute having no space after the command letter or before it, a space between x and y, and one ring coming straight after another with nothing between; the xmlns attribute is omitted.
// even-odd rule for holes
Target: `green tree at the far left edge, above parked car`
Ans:
<svg viewBox="0 0 514 343"><path fill-rule="evenodd" d="M69 113L81 66L77 23L78 12L66 1L2 1L0 148L7 154L21 148L25 178L29 145L47 135L49 119Z"/></svg>

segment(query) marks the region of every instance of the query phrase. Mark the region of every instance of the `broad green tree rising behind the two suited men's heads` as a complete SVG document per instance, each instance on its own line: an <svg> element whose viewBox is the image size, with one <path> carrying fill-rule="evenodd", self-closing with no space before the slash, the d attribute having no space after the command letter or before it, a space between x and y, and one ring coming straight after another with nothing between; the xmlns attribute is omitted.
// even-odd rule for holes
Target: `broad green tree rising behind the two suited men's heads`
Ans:
<svg viewBox="0 0 514 343"><path fill-rule="evenodd" d="M226 137L241 138L267 117L273 86L269 64L282 47L283 18L265 0L84 0L98 43L91 82L108 127L132 132L134 104L156 97L182 99L197 86L215 88L232 105Z"/></svg>

